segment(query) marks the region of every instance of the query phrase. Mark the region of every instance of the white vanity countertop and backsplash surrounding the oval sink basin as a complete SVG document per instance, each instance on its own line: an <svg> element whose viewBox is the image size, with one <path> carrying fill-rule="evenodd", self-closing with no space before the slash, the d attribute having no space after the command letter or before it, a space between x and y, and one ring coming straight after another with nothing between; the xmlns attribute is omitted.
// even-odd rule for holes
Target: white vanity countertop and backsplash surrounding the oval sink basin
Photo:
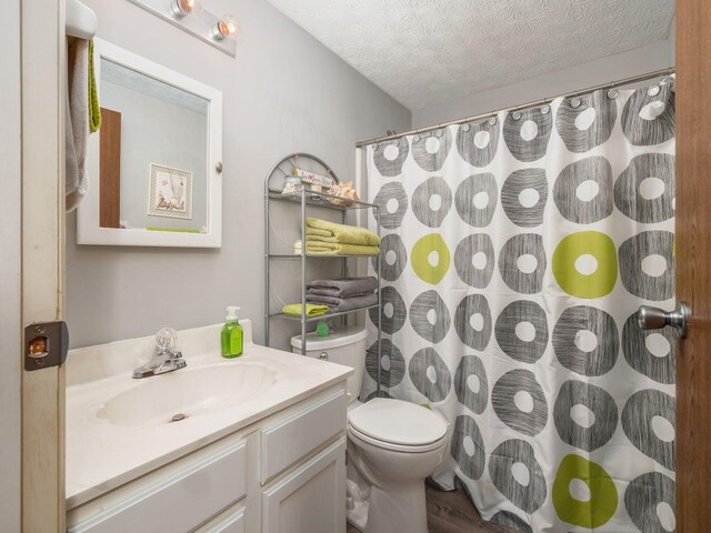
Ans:
<svg viewBox="0 0 711 533"><path fill-rule="evenodd" d="M233 360L220 356L219 324L187 330L179 332L178 349L188 368L142 380L133 380L131 370L139 365L137 355L143 360L150 355L152 336L70 352L66 429L68 510L342 382L353 372L348 366L247 342L251 341L251 324L241 323L246 339L241 356ZM273 383L257 398L228 402L179 423L119 425L101 415L109 399L150 380L171 380L192 369L220 365L227 369L244 363L273 372Z"/></svg>

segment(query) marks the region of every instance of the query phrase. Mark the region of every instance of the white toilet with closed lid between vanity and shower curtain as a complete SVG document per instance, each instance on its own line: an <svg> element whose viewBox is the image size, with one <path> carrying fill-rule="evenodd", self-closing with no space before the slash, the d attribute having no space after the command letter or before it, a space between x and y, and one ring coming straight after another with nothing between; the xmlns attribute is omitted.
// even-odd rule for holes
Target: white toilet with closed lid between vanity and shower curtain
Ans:
<svg viewBox="0 0 711 533"><path fill-rule="evenodd" d="M307 355L354 369L348 379L348 521L363 533L428 533L424 480L442 462L448 424L402 400L358 400L367 332L348 326L307 335ZM301 353L301 336L291 339Z"/></svg>

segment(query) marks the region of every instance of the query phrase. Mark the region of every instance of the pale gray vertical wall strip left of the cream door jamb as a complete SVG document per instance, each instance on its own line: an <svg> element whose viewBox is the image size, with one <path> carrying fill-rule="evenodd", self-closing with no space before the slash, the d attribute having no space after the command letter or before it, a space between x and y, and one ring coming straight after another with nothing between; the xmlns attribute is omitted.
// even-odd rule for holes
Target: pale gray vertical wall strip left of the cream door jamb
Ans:
<svg viewBox="0 0 711 533"><path fill-rule="evenodd" d="M20 531L20 2L0 18L0 529Z"/></svg>

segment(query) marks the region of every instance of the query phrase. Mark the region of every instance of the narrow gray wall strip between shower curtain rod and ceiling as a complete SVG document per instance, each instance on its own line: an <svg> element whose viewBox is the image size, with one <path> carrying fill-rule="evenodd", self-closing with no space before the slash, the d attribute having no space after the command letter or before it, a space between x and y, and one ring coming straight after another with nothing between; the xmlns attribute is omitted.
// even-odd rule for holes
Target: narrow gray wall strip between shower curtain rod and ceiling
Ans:
<svg viewBox="0 0 711 533"><path fill-rule="evenodd" d="M672 21L667 41L472 94L454 102L413 111L412 127L424 128L463 119L519 103L563 94L577 89L652 72L674 64L674 21Z"/></svg>

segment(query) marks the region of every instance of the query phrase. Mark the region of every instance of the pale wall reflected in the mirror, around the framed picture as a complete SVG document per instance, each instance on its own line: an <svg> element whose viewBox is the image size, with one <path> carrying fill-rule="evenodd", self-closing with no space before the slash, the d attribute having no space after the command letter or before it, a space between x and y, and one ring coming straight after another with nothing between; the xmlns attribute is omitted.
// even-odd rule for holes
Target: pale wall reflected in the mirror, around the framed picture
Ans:
<svg viewBox="0 0 711 533"><path fill-rule="evenodd" d="M208 225L208 115L107 80L101 107L121 113L121 221L128 228ZM151 163L192 172L192 218L148 214Z"/></svg>

